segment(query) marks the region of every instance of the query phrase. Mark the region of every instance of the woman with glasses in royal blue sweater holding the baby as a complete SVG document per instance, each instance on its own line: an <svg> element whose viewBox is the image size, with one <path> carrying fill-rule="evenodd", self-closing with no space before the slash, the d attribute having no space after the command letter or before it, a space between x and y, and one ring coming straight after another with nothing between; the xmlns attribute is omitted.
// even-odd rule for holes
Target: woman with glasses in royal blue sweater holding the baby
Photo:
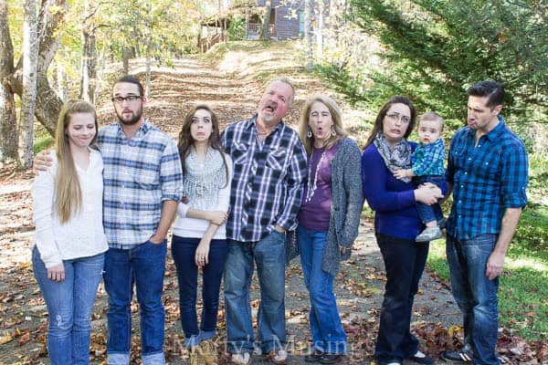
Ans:
<svg viewBox="0 0 548 365"><path fill-rule="evenodd" d="M398 180L394 172L411 166L416 143L406 141L413 130L416 110L411 101L396 96L388 100L374 121L362 156L364 196L374 210L374 230L386 270L385 298L381 308L374 358L380 365L400 365L404 360L421 364L434 361L417 349L409 331L413 300L428 254L428 243L416 243L424 225L415 203L433 204L442 197L435 185L414 188L410 179Z"/></svg>

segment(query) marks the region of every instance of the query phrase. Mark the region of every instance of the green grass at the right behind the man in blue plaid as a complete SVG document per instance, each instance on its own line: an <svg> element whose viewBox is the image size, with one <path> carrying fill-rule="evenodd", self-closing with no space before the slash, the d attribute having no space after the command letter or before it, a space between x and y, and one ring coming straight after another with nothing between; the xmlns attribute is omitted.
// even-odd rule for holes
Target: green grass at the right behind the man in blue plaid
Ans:
<svg viewBox="0 0 548 365"><path fill-rule="evenodd" d="M430 245L427 266L449 280L445 241ZM529 203L506 256L499 288L501 324L525 339L548 339L548 206Z"/></svg>

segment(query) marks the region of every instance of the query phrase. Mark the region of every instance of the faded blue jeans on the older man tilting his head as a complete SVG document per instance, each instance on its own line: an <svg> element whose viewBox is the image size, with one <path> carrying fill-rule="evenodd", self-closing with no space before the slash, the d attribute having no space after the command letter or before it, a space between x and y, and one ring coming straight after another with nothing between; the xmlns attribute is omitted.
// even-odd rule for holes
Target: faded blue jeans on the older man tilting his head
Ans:
<svg viewBox="0 0 548 365"><path fill-rule="evenodd" d="M273 231L258 242L228 240L225 266L227 346L231 353L254 349L249 286L257 265L260 287L258 340L263 353L285 346L285 235Z"/></svg>

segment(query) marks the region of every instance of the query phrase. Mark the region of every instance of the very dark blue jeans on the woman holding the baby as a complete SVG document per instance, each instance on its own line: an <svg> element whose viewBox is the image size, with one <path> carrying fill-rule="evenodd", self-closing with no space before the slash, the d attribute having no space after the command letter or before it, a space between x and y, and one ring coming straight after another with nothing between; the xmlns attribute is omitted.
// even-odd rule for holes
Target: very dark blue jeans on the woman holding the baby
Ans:
<svg viewBox="0 0 548 365"><path fill-rule="evenodd" d="M376 240L385 261L386 285L374 358L381 364L403 362L418 346L409 328L429 245L381 234L376 234Z"/></svg>

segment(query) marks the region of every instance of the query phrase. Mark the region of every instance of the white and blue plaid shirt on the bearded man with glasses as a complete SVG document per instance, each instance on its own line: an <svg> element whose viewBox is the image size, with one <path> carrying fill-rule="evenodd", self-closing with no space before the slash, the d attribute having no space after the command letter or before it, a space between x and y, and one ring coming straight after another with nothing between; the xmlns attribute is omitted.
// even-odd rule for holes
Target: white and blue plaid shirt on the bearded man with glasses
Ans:
<svg viewBox="0 0 548 365"><path fill-rule="evenodd" d="M130 249L154 235L164 200L179 202L183 172L175 142L149 120L128 140L119 121L99 130L103 224L112 248Z"/></svg>

